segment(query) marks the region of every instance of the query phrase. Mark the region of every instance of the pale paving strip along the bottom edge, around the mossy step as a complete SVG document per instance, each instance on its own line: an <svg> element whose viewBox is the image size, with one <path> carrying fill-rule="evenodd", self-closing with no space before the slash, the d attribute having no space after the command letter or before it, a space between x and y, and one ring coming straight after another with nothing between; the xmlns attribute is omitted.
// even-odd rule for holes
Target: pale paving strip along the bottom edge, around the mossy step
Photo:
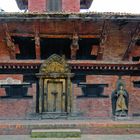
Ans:
<svg viewBox="0 0 140 140"><path fill-rule="evenodd" d="M0 135L0 140L140 140L140 135L82 135L81 138L31 138L29 135Z"/></svg>

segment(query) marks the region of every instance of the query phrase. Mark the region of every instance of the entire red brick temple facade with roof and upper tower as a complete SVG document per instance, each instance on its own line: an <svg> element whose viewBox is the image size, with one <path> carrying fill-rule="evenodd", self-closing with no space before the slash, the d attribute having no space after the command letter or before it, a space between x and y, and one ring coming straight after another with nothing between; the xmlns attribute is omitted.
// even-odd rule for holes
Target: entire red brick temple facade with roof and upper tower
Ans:
<svg viewBox="0 0 140 140"><path fill-rule="evenodd" d="M16 2L0 13L0 119L140 116L140 15Z"/></svg>

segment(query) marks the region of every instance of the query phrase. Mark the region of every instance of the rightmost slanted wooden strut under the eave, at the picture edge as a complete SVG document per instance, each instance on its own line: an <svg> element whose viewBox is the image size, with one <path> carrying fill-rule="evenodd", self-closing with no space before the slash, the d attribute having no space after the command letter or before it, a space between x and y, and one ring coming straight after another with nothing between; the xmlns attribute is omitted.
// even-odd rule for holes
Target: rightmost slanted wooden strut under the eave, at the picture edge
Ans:
<svg viewBox="0 0 140 140"><path fill-rule="evenodd" d="M139 38L139 36L140 36L140 23L137 24L137 26L131 36L131 40L128 44L128 47L125 50L122 60L126 60L129 58L129 53L132 50L132 48L135 46L135 43L136 43L137 39Z"/></svg>

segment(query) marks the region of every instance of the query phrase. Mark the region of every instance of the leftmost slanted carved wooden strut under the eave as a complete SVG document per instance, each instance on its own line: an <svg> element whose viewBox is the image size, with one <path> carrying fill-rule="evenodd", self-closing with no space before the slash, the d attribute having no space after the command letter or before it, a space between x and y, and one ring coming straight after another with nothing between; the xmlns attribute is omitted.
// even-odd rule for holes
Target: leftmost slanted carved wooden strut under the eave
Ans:
<svg viewBox="0 0 140 140"><path fill-rule="evenodd" d="M5 24L3 24L3 27L5 29L5 41L6 41L6 45L7 45L9 54L10 54L10 58L15 59L16 58L16 53L15 53L16 46L10 36L10 32L8 30L8 25L5 23Z"/></svg>

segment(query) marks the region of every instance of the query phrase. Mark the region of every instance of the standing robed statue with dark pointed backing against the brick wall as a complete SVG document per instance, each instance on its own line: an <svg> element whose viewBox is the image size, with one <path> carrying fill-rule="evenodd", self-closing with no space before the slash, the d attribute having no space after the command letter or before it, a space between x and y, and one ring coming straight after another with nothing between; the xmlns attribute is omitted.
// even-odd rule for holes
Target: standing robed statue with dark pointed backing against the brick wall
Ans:
<svg viewBox="0 0 140 140"><path fill-rule="evenodd" d="M119 78L117 88L112 92L112 113L114 116L128 115L128 100L129 95L125 89L124 81Z"/></svg>

